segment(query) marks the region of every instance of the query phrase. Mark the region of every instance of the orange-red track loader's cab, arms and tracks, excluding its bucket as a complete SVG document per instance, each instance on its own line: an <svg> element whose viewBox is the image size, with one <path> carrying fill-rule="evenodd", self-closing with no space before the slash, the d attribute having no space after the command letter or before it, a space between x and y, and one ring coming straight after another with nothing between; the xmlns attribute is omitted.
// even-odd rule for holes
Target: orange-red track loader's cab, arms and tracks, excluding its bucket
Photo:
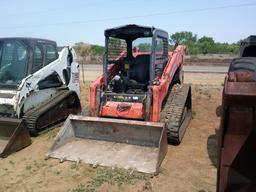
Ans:
<svg viewBox="0 0 256 192"><path fill-rule="evenodd" d="M104 73L90 86L91 116L169 121L168 139L180 143L191 117L191 89L183 84L185 47L168 52L166 32L136 25L108 29L105 36Z"/></svg>

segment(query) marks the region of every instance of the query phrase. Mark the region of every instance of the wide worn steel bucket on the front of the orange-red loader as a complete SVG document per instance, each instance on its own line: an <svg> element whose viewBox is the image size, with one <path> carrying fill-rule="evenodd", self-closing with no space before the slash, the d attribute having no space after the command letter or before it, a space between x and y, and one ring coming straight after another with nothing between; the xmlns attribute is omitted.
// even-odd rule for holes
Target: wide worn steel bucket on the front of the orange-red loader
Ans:
<svg viewBox="0 0 256 192"><path fill-rule="evenodd" d="M70 115L46 159L158 173L167 145L163 123Z"/></svg>

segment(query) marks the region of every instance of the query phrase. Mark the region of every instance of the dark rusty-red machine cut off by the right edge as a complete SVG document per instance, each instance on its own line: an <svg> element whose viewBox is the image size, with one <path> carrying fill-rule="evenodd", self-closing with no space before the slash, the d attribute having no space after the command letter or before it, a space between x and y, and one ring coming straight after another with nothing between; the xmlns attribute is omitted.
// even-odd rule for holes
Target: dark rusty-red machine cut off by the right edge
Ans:
<svg viewBox="0 0 256 192"><path fill-rule="evenodd" d="M242 43L225 79L218 192L256 191L256 36Z"/></svg>

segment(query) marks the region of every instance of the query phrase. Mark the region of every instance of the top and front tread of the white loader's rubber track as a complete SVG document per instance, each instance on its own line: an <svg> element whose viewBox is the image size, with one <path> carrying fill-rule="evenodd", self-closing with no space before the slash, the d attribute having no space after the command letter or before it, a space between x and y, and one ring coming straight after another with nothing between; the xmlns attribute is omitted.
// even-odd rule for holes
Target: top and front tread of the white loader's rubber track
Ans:
<svg viewBox="0 0 256 192"><path fill-rule="evenodd" d="M61 90L58 91L53 97L49 98L46 102L43 102L38 107L35 107L29 110L24 116L23 119L26 120L28 130L36 135L37 132L41 130L36 129L37 119L42 115L45 111L55 107L60 101L62 101L69 94L69 90ZM50 125L48 125L50 126Z"/></svg>

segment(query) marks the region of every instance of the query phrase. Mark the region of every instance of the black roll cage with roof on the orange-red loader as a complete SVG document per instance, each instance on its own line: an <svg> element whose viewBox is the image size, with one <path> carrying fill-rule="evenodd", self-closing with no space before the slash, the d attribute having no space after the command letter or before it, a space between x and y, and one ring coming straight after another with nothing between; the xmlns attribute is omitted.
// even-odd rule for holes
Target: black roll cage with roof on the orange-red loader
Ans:
<svg viewBox="0 0 256 192"><path fill-rule="evenodd" d="M125 25L117 28L111 28L105 30L105 54L104 54L104 63L103 63L103 72L104 72L104 85L108 85L108 65L115 63L119 60L117 58L115 61L109 59L109 43L111 38L117 38L124 40L126 42L126 59L131 59L133 57L133 48L132 43L138 38L149 37L152 38L151 51L148 53L150 59L148 63L149 67L149 84L153 84L156 78L156 71L158 69L163 70L165 64L168 60L168 33L157 29L154 27L144 27L138 25ZM157 39L162 39L163 50L161 53L161 58L159 58L159 52L157 52ZM162 72L162 71L161 71ZM161 74L161 73L160 73Z"/></svg>

